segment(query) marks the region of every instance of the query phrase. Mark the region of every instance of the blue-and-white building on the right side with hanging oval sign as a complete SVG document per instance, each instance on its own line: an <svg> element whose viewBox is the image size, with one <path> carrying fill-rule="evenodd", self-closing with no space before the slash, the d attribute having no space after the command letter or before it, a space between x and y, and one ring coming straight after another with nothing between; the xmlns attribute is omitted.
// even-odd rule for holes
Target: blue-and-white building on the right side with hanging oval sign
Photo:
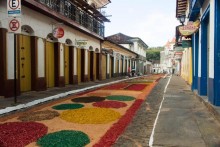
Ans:
<svg viewBox="0 0 220 147"><path fill-rule="evenodd" d="M189 65L192 90L220 106L220 1L177 0L176 17L187 18L182 36L190 43L184 47L188 59L183 64Z"/></svg>

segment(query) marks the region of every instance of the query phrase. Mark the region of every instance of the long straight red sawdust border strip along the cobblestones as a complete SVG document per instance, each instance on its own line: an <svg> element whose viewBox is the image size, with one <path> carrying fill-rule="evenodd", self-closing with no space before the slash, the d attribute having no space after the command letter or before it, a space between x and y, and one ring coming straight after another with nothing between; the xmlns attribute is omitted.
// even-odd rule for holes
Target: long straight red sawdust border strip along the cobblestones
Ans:
<svg viewBox="0 0 220 147"><path fill-rule="evenodd" d="M126 114L121 117L121 119L115 123L106 133L105 135L99 140L98 143L94 145L94 147L110 147L118 136L124 131L126 126L131 122L134 114L141 106L143 100L138 99L134 102L134 104L127 110Z"/></svg>

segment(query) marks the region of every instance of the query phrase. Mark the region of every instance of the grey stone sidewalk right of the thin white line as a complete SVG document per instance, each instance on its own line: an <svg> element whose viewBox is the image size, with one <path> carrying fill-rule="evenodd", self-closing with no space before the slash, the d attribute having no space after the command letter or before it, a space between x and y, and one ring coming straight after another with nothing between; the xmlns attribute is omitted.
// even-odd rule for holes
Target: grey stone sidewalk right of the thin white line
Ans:
<svg viewBox="0 0 220 147"><path fill-rule="evenodd" d="M213 111L208 111L201 101L181 77L172 76L165 88L150 146L220 146L220 123L213 117L219 113L212 115ZM219 108L212 109L217 112Z"/></svg>

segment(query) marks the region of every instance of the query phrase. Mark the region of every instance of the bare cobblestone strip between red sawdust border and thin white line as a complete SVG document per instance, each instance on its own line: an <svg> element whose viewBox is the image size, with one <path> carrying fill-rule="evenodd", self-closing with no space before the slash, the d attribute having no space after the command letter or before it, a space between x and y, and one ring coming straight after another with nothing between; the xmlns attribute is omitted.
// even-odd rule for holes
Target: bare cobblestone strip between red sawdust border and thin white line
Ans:
<svg viewBox="0 0 220 147"><path fill-rule="evenodd" d="M114 144L114 147L144 147L149 145L154 121L163 99L163 92L168 79L168 77L162 78L158 85L154 87L147 99L142 103L125 132Z"/></svg>

